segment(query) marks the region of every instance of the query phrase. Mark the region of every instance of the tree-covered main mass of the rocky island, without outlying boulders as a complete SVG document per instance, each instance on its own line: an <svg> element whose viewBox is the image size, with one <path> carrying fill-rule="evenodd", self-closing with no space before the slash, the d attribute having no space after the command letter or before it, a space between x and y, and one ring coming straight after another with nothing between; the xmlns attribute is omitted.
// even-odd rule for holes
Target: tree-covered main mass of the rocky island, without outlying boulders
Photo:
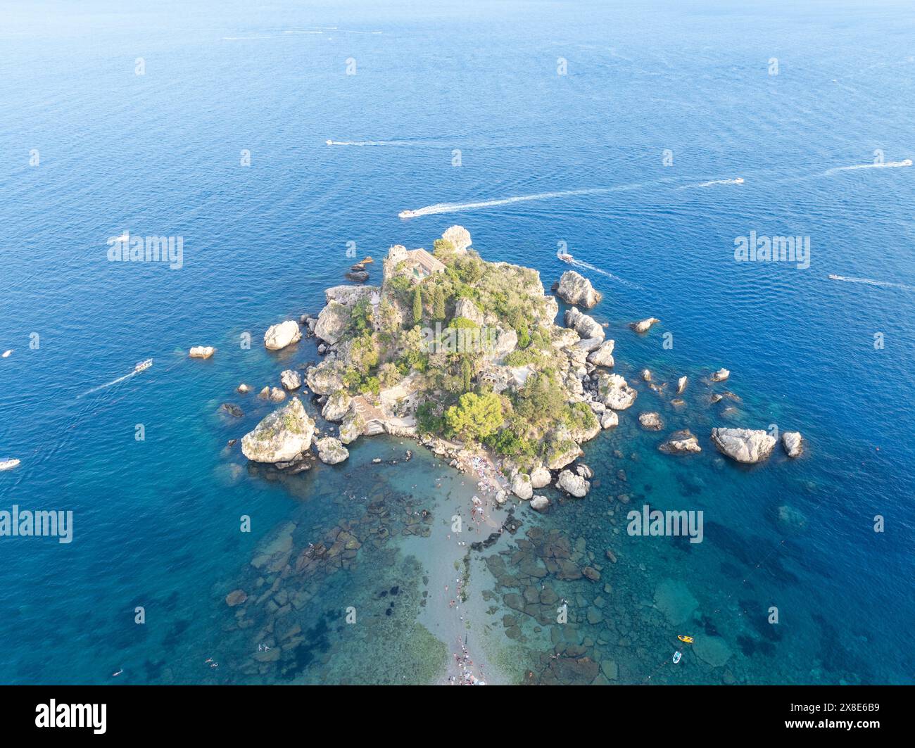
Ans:
<svg viewBox="0 0 915 748"><path fill-rule="evenodd" d="M612 357L587 356L603 328L577 310L575 329L556 326L538 272L484 262L470 243L451 227L431 252L392 247L380 288L328 289L314 329L326 358L307 384L328 396L323 415L344 443L433 435L485 443L525 470L561 468L600 431L606 395L590 375Z"/></svg>

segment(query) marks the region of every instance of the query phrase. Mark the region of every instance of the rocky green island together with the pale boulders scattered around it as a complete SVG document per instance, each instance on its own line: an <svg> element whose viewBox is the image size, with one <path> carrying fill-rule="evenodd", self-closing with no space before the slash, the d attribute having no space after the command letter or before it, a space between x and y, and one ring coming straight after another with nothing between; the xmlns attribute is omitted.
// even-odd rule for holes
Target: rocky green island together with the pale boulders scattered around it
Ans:
<svg viewBox="0 0 915 748"><path fill-rule="evenodd" d="M590 468L566 468L583 456L582 443L619 424L618 412L638 392L611 371L615 341L576 307L597 304L601 294L573 271L554 289L571 304L565 326L555 323L559 305L544 293L538 272L484 261L461 226L447 229L432 251L391 247L379 285L328 288L317 317L286 320L264 335L269 350L298 342L300 325L316 339L324 358L307 368L304 385L328 429L294 396L242 439L243 454L297 472L311 465L313 454L334 465L348 458L345 444L388 433L416 439L455 466L484 461L501 476L493 486L500 503L511 491L522 500L537 498L535 508L545 509L545 498L533 491L551 484L566 496L586 496ZM631 327L644 334L658 322L648 317ZM729 374L719 369L708 382ZM666 387L653 383L649 369L641 379L656 392ZM678 395L686 381L677 380ZM303 385L291 369L281 382L283 390L264 388L261 396L281 402ZM722 397L713 394L711 402ZM664 427L655 411L640 412L638 422L649 431ZM335 435L321 433L333 428ZM785 442L791 456L801 451L794 434ZM710 439L738 463L765 460L775 443L768 433L745 429L716 428ZM659 449L702 451L688 430L670 434Z"/></svg>

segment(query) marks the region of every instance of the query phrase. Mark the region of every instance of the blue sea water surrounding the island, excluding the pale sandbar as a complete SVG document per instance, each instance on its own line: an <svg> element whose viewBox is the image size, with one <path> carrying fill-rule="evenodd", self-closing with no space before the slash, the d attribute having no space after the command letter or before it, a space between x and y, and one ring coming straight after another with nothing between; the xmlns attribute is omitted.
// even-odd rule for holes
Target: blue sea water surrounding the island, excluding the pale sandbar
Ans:
<svg viewBox="0 0 915 748"><path fill-rule="evenodd" d="M0 359L0 457L22 465L0 474L0 509L72 509L74 540L0 538L0 681L118 682L120 668L133 683L397 682L393 668L434 679L434 641L390 644L410 636L431 563L393 542L363 542L357 568L296 591L303 643L282 674L246 665L252 642L223 597L257 584L250 561L290 522L298 550L344 520L377 538L373 502L391 508L385 532L420 506L435 514L429 476L447 467L424 452L372 473L373 456L404 449L380 439L275 481L226 442L269 410L236 395L239 382L275 385L318 358L306 341L277 355L260 339L318 311L352 262L348 242L379 258L460 223L484 259L533 266L547 286L566 269L560 242L612 273L586 272L618 370L691 379L681 411L641 388L619 429L587 444L600 482L589 497L544 518L519 508L522 529L492 548L533 527L587 547L602 579L557 582L580 611L563 636L613 660L619 682L911 682L915 169L843 168L913 157L910 10L6 6L0 348L13 353ZM493 204L460 207L481 202ZM450 207L397 217L438 204ZM125 230L183 237L183 267L108 262L106 240ZM735 262L751 231L810 237L810 267ZM628 329L649 315L662 320L649 335ZM192 345L219 350L192 361ZM147 357L153 369L85 394ZM709 406L701 382L722 366L741 398L732 412ZM217 412L223 401L240 422ZM661 437L634 419L645 403L704 452L657 453ZM802 459L777 451L743 469L708 442L714 425L771 423L804 434ZM703 509L705 541L630 538L619 498L608 502L620 495ZM786 523L784 507L802 520ZM487 573L474 568L474 594L514 589ZM380 623L357 646L339 610L371 610L391 580L403 602L372 611ZM660 612L672 595L681 621ZM587 623L595 607L603 620ZM546 628L531 619L509 640L496 618L486 646L522 657L507 679L565 679ZM727 662L687 652L663 666L684 626L723 640ZM221 669L203 664L214 656Z"/></svg>

